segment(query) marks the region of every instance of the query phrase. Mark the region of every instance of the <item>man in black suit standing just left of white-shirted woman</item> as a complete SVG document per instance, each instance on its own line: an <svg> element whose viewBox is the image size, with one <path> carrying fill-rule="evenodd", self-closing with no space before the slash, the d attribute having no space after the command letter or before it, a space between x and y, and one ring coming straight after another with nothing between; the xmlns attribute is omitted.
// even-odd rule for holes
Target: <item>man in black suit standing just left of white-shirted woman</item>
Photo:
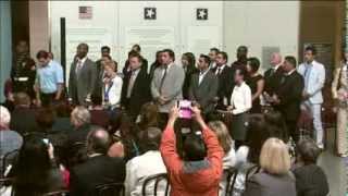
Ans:
<svg viewBox="0 0 348 196"><path fill-rule="evenodd" d="M227 66L228 56L224 51L217 52L216 68L211 71L219 78L217 109L225 110L231 102L231 95L234 87L234 72Z"/></svg>

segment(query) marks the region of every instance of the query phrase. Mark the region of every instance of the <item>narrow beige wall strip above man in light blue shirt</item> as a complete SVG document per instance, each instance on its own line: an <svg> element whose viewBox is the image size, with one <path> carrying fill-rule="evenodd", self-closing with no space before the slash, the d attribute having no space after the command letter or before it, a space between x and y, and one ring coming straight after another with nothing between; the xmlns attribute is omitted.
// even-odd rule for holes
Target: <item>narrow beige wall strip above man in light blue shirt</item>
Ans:
<svg viewBox="0 0 348 196"><path fill-rule="evenodd" d="M48 1L29 1L30 56L49 49Z"/></svg>

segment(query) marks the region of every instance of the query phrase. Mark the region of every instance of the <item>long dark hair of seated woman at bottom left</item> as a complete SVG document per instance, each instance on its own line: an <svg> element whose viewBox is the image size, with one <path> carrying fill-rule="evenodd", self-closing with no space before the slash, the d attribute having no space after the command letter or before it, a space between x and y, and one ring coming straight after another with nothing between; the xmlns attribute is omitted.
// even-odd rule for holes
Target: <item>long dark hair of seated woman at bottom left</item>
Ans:
<svg viewBox="0 0 348 196"><path fill-rule="evenodd" d="M38 134L27 135L13 169L15 196L36 196L48 192L51 162L48 146Z"/></svg>

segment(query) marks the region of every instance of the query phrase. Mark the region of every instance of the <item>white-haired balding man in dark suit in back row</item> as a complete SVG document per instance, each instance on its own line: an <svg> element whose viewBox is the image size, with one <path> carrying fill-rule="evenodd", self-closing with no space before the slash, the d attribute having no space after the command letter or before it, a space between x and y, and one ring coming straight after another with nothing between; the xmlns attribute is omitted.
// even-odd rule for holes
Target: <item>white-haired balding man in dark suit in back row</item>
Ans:
<svg viewBox="0 0 348 196"><path fill-rule="evenodd" d="M284 71L282 69L282 56L277 52L272 53L271 66L264 72L264 91L273 96L274 91L279 88Z"/></svg>

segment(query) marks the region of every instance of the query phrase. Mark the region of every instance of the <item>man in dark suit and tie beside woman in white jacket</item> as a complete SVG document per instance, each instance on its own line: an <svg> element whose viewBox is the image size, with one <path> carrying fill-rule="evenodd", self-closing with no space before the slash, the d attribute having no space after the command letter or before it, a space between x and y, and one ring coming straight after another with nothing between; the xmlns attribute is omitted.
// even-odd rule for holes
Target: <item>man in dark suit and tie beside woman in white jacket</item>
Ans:
<svg viewBox="0 0 348 196"><path fill-rule="evenodd" d="M151 100L150 77L141 64L141 56L133 53L129 57L130 72L125 75L121 93L121 106L133 120L136 120L144 103Z"/></svg>

